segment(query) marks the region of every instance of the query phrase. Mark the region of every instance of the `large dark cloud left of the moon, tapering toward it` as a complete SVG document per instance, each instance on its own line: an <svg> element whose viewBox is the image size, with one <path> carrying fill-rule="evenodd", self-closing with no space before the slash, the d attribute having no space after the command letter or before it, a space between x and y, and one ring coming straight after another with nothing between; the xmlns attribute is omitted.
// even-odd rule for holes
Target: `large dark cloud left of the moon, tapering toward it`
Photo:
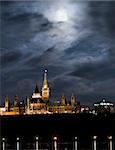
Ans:
<svg viewBox="0 0 115 150"><path fill-rule="evenodd" d="M17 4L19 4L19 2L17 2ZM14 7L13 5L11 6L11 10L14 8L18 9L18 5L14 5ZM53 28L53 26L52 23L39 12L18 13L17 9L15 9L15 13L13 13L9 9L9 11L7 11L7 7L4 8L4 5L2 6L2 47L8 50L21 48L25 51L25 47L29 45L36 34L48 31Z"/></svg>

